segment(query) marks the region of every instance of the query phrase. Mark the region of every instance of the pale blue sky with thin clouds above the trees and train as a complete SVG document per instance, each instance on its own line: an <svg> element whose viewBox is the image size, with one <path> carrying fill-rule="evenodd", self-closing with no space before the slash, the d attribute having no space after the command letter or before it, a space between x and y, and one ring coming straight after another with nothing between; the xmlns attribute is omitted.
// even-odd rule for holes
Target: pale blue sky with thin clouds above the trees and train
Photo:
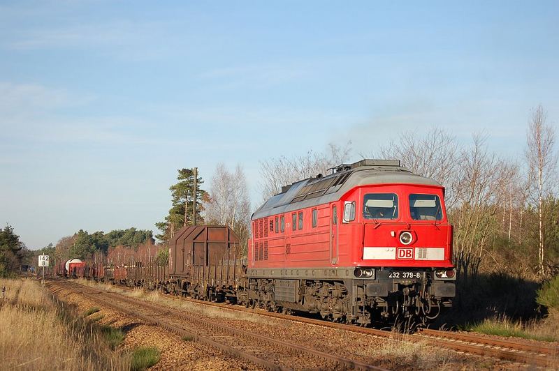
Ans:
<svg viewBox="0 0 559 371"><path fill-rule="evenodd" d="M559 119L557 1L0 1L0 222L30 248L154 229L177 169L398 132L522 156Z"/></svg>

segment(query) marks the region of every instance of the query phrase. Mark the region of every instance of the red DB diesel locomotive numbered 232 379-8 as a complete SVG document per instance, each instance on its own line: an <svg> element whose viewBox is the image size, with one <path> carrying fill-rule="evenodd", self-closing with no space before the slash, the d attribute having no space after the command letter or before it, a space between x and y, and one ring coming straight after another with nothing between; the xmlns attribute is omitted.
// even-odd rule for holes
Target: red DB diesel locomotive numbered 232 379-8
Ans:
<svg viewBox="0 0 559 371"><path fill-rule="evenodd" d="M361 160L282 188L252 215L238 301L348 323L425 324L455 296L444 188Z"/></svg>

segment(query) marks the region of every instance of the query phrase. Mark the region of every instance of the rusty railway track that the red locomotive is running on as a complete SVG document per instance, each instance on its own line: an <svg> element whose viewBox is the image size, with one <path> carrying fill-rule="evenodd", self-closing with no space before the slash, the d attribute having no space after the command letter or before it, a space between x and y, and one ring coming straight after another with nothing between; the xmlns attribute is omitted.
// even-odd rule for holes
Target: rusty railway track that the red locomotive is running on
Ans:
<svg viewBox="0 0 559 371"><path fill-rule="evenodd" d="M120 287L123 288L123 287ZM133 291L131 288L127 290ZM394 333L389 331L377 330L375 328L364 328L347 324L333 323L321 319L312 319L307 317L295 317L275 312L266 312L259 309L243 308L238 305L226 303L212 303L201 301L194 298L184 298L181 296L170 296L182 301L190 301L199 305L207 305L211 307L222 308L225 310L233 310L238 312L251 312L256 315L274 317L278 319L286 319L289 321L298 321L306 324L314 324L329 328L339 328L344 331L353 331L357 333L365 333L381 338L393 338ZM538 365L542 367L553 367L559 362L559 347L554 345L530 344L529 342L521 342L518 340L508 340L502 338L493 338L474 333L456 333L451 331L437 331L431 329L423 329L419 333L413 335L396 335L398 339L409 342L425 341L435 347L444 347L455 351L462 351L468 354L477 354L479 356L491 356L493 358L513 361L519 363L527 363L529 365Z"/></svg>

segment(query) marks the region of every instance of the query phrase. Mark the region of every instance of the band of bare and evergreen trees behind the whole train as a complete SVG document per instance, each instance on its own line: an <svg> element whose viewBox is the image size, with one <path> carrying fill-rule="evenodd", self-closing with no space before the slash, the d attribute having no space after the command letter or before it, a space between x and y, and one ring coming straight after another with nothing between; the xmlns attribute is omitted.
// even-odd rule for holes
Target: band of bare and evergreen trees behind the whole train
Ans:
<svg viewBox="0 0 559 371"><path fill-rule="evenodd" d="M359 153L362 158L392 158L416 174L427 176L445 186L445 202L450 222L454 225L453 248L460 275L483 271L508 271L518 276L546 275L559 268L559 198L557 180L556 133L547 123L542 107L533 109L528 122L522 156L503 158L491 151L488 137L472 135L469 144L440 128L423 135L403 132L376 151ZM259 187L262 199L280 192L282 185L327 174L328 169L347 162L351 142L343 146L329 144L324 151L308 151L300 156L279 156L260 162ZM245 172L240 165L232 171L217 164L210 190L203 189L203 179L196 176L196 224L229 225L241 239L246 252L250 236L250 216L254 209L249 199ZM169 188L171 207L163 221L156 223L159 234L159 262L166 262L165 246L182 227L193 224L194 172L177 170L177 183ZM22 244L14 239L13 229L2 230L0 272L13 265ZM154 259L152 231L135 228L104 234L80 230L62 238L50 252L59 259L107 257L121 262L124 250ZM50 250L49 250L50 249ZM161 252L159 252L161 250ZM21 259L20 259L21 260ZM1 273L0 273L1 274Z"/></svg>

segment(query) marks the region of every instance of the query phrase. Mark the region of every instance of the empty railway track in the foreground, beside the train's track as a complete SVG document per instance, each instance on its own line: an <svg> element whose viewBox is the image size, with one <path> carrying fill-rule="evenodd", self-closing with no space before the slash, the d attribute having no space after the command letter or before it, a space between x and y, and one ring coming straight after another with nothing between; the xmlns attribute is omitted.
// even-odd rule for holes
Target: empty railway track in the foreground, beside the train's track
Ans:
<svg viewBox="0 0 559 371"><path fill-rule="evenodd" d="M329 370L383 370L348 358L296 345L220 324L186 312L147 303L136 298L86 287L74 282L53 285L85 295L90 300L119 312L124 312L149 324L166 328L178 335L188 336L210 347L226 351L268 370L299 370L304 368ZM281 336L281 335L280 335Z"/></svg>

